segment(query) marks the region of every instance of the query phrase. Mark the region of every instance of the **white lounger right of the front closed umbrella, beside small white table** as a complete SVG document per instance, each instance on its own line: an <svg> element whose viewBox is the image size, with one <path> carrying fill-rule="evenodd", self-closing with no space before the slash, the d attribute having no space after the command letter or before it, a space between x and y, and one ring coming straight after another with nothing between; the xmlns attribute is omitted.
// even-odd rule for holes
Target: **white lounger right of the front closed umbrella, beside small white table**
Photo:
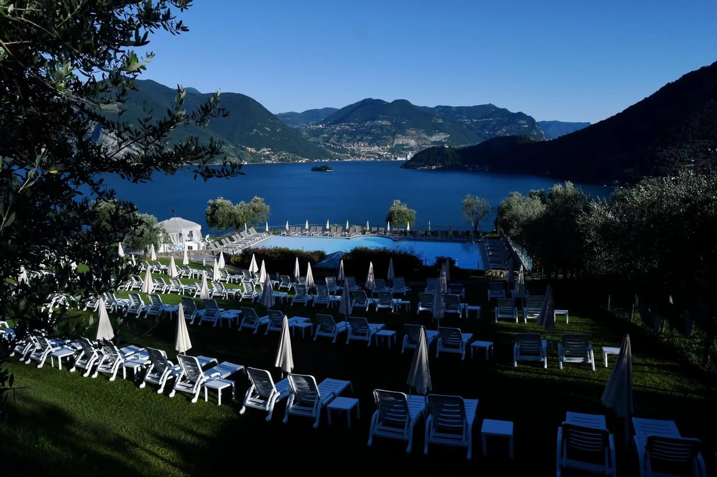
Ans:
<svg viewBox="0 0 717 477"><path fill-rule="evenodd" d="M289 374L289 400L286 403L284 424L289 420L289 415L313 417L314 428L318 428L321 417L321 410L326 407L335 397L340 395L351 381L339 379L324 379L321 384L316 385L316 379L307 374Z"/></svg>

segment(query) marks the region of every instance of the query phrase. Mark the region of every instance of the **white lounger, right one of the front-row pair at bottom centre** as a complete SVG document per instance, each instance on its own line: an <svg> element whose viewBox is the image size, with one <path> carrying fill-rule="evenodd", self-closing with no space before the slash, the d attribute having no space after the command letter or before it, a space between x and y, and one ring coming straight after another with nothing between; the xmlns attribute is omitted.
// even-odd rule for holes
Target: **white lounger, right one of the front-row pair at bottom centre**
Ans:
<svg viewBox="0 0 717 477"><path fill-rule="evenodd" d="M428 453L429 444L459 445L468 448L467 458L470 459L477 411L477 399L429 395L423 453Z"/></svg>

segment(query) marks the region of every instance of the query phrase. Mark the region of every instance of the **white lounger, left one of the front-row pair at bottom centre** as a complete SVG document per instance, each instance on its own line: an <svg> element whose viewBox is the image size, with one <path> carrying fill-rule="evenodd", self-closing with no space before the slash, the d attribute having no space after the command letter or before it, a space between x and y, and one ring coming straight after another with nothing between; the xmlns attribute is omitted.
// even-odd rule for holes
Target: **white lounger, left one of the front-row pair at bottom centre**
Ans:
<svg viewBox="0 0 717 477"><path fill-rule="evenodd" d="M406 440L406 452L411 452L413 428L426 410L426 398L374 389L374 402L377 409L371 417L369 445L374 443L374 436Z"/></svg>

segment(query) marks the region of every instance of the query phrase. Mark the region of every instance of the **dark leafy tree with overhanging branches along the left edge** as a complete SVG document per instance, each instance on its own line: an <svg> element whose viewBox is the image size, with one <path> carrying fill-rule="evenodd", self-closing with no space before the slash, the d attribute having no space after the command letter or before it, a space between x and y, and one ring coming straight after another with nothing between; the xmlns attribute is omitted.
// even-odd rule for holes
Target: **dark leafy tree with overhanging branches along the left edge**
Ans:
<svg viewBox="0 0 717 477"><path fill-rule="evenodd" d="M0 340L0 366L29 330L67 329L67 306L41 311L56 293L80 300L110 291L130 272L117 242L146 221L115 198L102 174L133 182L183 169L203 179L239 173L221 159L222 144L176 138L172 131L226 115L219 93L185 110L178 86L166 112L110 120L122 110L153 54L140 57L148 34L181 34L176 19L189 0L0 0L0 319L16 338ZM101 138L98 140L98 131ZM128 213L98 222L92 202L117 201ZM74 267L73 263L83 264ZM19 282L21 267L52 274ZM0 396L12 386L0 369Z"/></svg>

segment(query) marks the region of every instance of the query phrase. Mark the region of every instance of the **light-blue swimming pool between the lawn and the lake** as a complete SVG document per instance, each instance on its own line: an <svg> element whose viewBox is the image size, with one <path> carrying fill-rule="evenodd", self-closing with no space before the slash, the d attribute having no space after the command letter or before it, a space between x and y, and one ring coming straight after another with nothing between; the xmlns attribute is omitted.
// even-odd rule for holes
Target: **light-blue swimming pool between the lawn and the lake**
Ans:
<svg viewBox="0 0 717 477"><path fill-rule="evenodd" d="M327 254L348 252L356 247L413 249L414 253L433 263L435 257L450 257L460 268L483 268L482 245L465 242L432 242L425 240L393 240L389 237L359 236L351 238L286 237L274 235L257 243L256 247L288 247L301 250L323 250Z"/></svg>

